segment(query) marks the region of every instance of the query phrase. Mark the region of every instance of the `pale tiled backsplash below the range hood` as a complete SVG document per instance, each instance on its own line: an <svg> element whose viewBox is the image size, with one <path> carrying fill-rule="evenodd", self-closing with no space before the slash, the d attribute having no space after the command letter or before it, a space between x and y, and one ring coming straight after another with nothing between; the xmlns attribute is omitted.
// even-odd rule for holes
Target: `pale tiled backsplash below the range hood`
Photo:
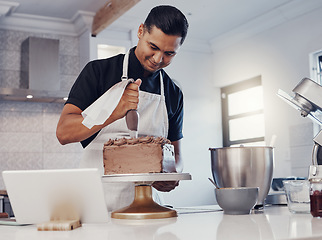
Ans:
<svg viewBox="0 0 322 240"><path fill-rule="evenodd" d="M56 138L62 108L59 103L0 101L0 172L78 167L80 143L62 146Z"/></svg>

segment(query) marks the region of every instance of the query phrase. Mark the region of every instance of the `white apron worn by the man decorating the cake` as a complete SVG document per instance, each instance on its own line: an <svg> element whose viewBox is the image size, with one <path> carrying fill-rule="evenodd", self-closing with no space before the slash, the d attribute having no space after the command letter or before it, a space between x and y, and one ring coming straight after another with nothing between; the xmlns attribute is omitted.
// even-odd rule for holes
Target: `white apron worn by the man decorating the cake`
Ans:
<svg viewBox="0 0 322 240"><path fill-rule="evenodd" d="M128 78L129 51L125 54L123 61L122 80ZM139 91L139 136L162 136L168 134L168 113L165 104L163 78L160 72L161 95ZM103 146L109 139L129 138L125 118L119 119L105 128L101 129L94 140L84 149L83 158L80 162L81 168L98 168L102 175ZM133 183L103 183L105 201L109 211L114 211L128 206L134 199Z"/></svg>

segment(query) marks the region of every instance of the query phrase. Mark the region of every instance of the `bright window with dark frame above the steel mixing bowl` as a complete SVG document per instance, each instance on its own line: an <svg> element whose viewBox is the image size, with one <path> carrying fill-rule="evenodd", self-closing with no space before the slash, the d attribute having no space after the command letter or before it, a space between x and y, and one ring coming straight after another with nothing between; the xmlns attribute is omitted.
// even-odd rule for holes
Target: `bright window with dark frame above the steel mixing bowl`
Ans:
<svg viewBox="0 0 322 240"><path fill-rule="evenodd" d="M261 77L221 88L224 147L264 145L265 122Z"/></svg>

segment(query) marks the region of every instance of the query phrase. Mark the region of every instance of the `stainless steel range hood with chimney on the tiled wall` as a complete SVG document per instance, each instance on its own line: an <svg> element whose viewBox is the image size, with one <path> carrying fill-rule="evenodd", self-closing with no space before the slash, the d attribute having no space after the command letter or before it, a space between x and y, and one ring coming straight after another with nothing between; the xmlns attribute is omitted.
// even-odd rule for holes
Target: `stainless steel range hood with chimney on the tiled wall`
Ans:
<svg viewBox="0 0 322 240"><path fill-rule="evenodd" d="M19 81L0 84L0 100L64 103L68 92L60 87L59 40L28 37L20 56Z"/></svg>

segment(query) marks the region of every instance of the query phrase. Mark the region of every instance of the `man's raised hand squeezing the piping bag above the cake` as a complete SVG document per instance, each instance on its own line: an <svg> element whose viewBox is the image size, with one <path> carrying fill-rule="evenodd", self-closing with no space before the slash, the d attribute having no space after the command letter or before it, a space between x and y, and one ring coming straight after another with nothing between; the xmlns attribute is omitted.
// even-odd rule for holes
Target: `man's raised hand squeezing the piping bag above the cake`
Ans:
<svg viewBox="0 0 322 240"><path fill-rule="evenodd" d="M125 116L125 114L131 109L137 109L139 104L139 87L142 83L141 79L137 79L133 83L129 83L124 93L112 112L110 118L114 121L117 119L121 119Z"/></svg>

